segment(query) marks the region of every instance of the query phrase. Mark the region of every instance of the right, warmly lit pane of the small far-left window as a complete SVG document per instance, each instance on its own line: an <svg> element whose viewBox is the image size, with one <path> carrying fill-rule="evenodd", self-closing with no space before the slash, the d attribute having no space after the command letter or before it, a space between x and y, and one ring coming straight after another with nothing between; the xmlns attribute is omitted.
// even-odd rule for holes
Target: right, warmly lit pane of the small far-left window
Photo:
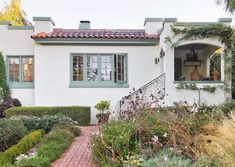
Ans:
<svg viewBox="0 0 235 167"><path fill-rule="evenodd" d="M22 58L23 82L33 82L33 58Z"/></svg>

